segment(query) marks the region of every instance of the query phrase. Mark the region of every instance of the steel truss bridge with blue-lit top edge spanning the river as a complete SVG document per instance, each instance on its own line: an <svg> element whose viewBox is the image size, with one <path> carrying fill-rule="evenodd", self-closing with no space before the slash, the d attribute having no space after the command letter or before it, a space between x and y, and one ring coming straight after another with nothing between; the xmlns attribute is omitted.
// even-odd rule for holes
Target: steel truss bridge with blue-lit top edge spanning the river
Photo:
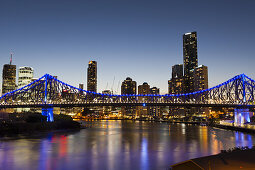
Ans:
<svg viewBox="0 0 255 170"><path fill-rule="evenodd" d="M215 87L186 94L103 94L86 91L45 74L0 97L3 108L87 106L189 106L255 108L255 80L240 74Z"/></svg>

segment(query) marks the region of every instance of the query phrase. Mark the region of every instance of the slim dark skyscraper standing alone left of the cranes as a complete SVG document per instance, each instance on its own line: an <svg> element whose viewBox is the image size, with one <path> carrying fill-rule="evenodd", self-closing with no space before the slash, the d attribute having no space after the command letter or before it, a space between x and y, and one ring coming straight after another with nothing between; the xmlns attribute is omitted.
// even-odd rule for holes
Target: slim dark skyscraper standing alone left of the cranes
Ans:
<svg viewBox="0 0 255 170"><path fill-rule="evenodd" d="M89 61L87 71L87 91L97 92L97 62Z"/></svg>

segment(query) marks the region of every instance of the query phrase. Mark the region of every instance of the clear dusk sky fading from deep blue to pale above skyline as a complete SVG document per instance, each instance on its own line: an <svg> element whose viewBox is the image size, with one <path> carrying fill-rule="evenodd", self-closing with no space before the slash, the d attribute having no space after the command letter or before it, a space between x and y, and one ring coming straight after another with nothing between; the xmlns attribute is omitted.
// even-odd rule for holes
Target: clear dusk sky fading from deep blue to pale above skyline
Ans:
<svg viewBox="0 0 255 170"><path fill-rule="evenodd" d="M183 63L182 35L197 31L210 87L241 73L255 79L254 0L0 2L1 70L13 49L13 64L33 67L35 77L48 73L86 89L88 62L96 60L98 92L114 77L120 92L131 77L165 94L172 65Z"/></svg>

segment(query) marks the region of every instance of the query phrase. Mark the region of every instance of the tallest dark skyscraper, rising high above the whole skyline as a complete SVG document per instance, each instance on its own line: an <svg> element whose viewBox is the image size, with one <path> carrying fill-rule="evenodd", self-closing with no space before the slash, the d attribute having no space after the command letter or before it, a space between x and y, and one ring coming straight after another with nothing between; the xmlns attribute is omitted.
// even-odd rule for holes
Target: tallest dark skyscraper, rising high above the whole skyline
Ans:
<svg viewBox="0 0 255 170"><path fill-rule="evenodd" d="M183 35L184 92L194 91L193 70L198 66L197 33Z"/></svg>

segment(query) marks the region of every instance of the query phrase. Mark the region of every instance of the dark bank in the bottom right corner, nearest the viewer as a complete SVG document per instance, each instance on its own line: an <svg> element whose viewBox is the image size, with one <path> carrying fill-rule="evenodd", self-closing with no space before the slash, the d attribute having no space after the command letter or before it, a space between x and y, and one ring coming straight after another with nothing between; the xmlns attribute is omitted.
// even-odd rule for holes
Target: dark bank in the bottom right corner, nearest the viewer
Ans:
<svg viewBox="0 0 255 170"><path fill-rule="evenodd" d="M254 169L255 148L233 148L222 153L190 159L171 165L172 170L180 169Z"/></svg>

